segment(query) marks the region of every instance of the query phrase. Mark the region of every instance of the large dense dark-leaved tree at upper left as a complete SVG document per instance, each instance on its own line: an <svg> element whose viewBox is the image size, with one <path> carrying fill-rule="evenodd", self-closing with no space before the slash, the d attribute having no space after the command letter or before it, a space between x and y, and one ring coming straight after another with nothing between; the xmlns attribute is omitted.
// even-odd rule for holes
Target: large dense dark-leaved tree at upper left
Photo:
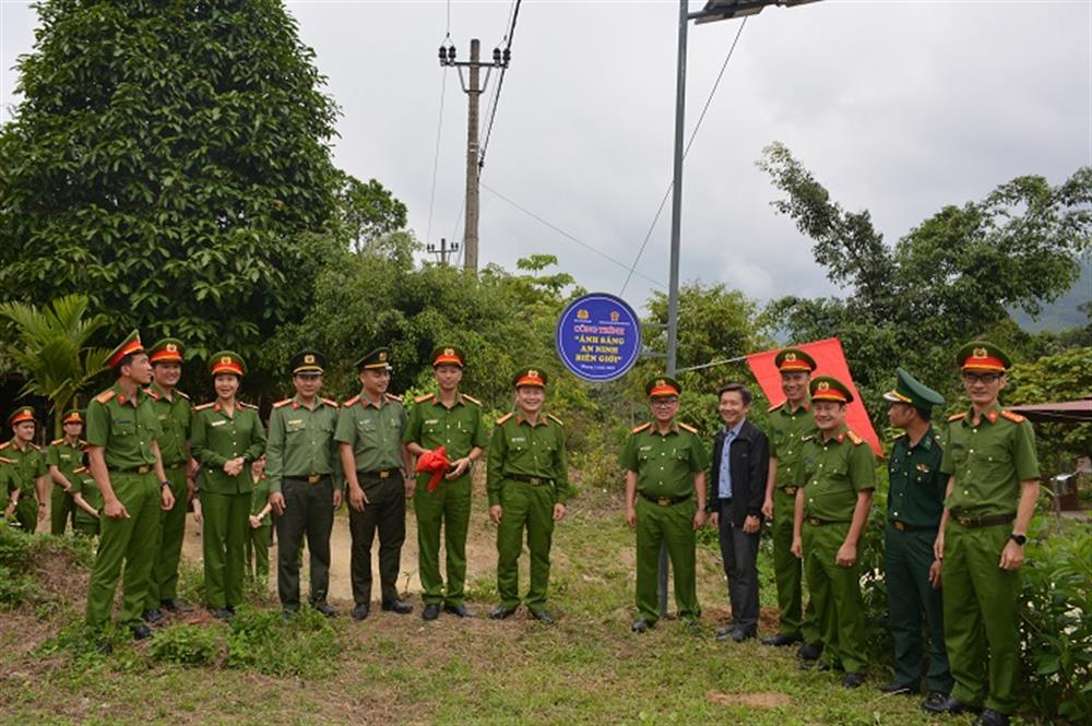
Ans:
<svg viewBox="0 0 1092 726"><path fill-rule="evenodd" d="M0 290L257 358L310 306L336 109L280 0L44 0L0 133Z"/></svg>

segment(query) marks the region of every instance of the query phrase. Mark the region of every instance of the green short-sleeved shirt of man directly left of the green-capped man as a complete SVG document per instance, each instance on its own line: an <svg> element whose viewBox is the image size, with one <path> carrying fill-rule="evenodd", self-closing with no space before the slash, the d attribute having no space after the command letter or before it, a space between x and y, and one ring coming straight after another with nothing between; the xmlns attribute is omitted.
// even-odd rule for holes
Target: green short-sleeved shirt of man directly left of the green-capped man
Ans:
<svg viewBox="0 0 1092 726"><path fill-rule="evenodd" d="M857 492L876 488L876 455L844 425L823 441L816 433L804 441L796 485L804 487L804 515L824 522L850 522Z"/></svg>

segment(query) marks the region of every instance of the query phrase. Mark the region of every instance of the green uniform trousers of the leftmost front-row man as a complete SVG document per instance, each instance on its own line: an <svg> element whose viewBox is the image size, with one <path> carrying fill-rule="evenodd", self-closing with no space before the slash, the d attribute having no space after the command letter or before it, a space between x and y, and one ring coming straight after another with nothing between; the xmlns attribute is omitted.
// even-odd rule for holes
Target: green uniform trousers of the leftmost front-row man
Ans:
<svg viewBox="0 0 1092 726"><path fill-rule="evenodd" d="M153 545L159 529L159 485L155 474L110 472L114 493L129 512L128 519L99 520L98 555L87 586L87 627L106 627L114 607L114 592L121 579L120 623L133 628L147 598ZM124 573L122 574L122 563Z"/></svg>

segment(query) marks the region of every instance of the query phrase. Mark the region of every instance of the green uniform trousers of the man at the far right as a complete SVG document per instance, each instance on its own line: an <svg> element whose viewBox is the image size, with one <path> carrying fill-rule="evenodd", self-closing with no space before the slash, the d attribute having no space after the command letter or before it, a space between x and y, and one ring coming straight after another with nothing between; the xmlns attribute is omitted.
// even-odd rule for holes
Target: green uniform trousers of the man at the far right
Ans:
<svg viewBox="0 0 1092 726"><path fill-rule="evenodd" d="M951 694L1004 714L1016 711L1020 675L1020 572L998 567L1011 531L1010 524L972 529L951 519L945 534L945 643L956 679Z"/></svg>

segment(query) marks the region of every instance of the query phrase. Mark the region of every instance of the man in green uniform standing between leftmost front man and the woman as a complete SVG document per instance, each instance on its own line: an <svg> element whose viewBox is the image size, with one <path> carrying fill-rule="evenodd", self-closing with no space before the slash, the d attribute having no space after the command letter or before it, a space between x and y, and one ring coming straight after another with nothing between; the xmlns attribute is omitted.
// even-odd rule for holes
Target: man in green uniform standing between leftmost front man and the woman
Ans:
<svg viewBox="0 0 1092 726"><path fill-rule="evenodd" d="M197 462L190 456L193 406L190 397L175 388L182 376L182 342L174 337L163 338L149 353L152 385L146 393L152 396L152 408L163 429L159 453L170 481L170 492L175 497L175 505L163 512L161 517L159 541L152 564L152 586L144 604L143 617L151 623L163 620L163 610L189 612L193 609L178 599L178 563L186 535L186 509L195 489L193 472L197 469Z"/></svg>

